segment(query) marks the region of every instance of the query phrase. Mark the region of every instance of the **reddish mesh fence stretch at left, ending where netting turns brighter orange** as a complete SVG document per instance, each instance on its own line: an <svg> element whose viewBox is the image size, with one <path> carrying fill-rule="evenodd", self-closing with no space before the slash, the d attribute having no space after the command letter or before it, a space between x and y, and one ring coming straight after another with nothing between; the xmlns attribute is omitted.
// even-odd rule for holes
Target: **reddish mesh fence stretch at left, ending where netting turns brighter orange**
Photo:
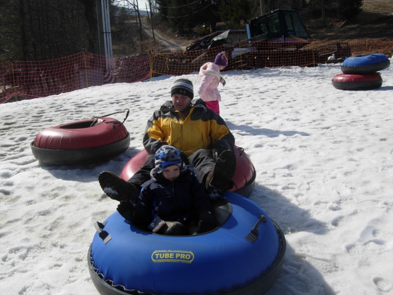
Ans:
<svg viewBox="0 0 393 295"><path fill-rule="evenodd" d="M150 76L149 56L110 58L81 52L41 61L0 63L0 103L45 97L90 86L133 83ZM19 98L18 98L19 97Z"/></svg>

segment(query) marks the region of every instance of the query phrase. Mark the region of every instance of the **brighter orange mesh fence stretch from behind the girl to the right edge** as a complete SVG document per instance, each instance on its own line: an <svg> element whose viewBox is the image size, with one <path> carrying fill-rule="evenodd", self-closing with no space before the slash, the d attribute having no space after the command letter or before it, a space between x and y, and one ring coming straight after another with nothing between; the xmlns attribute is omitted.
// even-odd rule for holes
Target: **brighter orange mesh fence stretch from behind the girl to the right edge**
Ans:
<svg viewBox="0 0 393 295"><path fill-rule="evenodd" d="M278 66L316 66L320 63L342 62L347 57L372 53L382 53L391 57L393 42L368 38L312 42L239 41L189 52L153 52L151 72L158 75L190 74L199 71L203 63L214 61L216 55L222 51L228 54L228 66L223 70L225 72Z"/></svg>

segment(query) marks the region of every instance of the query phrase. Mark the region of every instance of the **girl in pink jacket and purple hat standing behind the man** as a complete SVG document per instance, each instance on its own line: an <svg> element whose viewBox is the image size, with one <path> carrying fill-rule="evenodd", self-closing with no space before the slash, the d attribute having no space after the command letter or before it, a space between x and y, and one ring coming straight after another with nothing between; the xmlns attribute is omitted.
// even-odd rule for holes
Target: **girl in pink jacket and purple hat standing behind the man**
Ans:
<svg viewBox="0 0 393 295"><path fill-rule="evenodd" d="M228 65L228 58L225 52L216 56L213 62L206 62L200 67L199 76L202 78L199 84L198 93L200 98L206 103L206 106L220 115L221 100L220 92L217 87L220 82L225 86L225 80L221 77L220 70Z"/></svg>

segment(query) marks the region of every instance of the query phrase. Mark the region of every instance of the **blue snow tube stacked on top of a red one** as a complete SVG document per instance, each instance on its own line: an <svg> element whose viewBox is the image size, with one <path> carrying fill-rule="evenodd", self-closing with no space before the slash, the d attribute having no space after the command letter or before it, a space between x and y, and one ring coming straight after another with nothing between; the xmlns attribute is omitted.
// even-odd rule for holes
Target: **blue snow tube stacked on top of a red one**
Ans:
<svg viewBox="0 0 393 295"><path fill-rule="evenodd" d="M386 69L390 60L381 53L346 58L341 65L344 74L369 74Z"/></svg>

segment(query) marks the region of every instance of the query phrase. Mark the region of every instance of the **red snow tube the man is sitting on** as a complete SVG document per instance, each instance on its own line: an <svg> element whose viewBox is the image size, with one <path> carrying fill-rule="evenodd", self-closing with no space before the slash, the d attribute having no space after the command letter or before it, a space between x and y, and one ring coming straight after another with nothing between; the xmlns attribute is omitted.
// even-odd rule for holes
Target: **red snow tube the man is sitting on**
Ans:
<svg viewBox="0 0 393 295"><path fill-rule="evenodd" d="M235 192L244 197L249 197L253 192L253 187L255 183L256 172L251 162L250 157L244 152L243 148L234 148L234 153L236 155L236 171L235 175L232 177L234 186L229 190ZM121 171L120 177L128 180L132 177L144 164L147 156L147 151L145 149L137 153L127 164L124 165Z"/></svg>

